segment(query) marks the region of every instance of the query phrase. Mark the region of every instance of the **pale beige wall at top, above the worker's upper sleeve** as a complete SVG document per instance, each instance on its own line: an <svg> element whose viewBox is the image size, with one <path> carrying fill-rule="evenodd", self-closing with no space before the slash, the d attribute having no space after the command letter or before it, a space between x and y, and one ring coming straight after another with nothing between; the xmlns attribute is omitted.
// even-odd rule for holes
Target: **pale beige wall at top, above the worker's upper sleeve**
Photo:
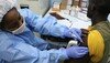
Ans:
<svg viewBox="0 0 110 63"><path fill-rule="evenodd" d="M18 0L18 4L29 4L30 9L38 14L44 14L48 9L48 0Z"/></svg>

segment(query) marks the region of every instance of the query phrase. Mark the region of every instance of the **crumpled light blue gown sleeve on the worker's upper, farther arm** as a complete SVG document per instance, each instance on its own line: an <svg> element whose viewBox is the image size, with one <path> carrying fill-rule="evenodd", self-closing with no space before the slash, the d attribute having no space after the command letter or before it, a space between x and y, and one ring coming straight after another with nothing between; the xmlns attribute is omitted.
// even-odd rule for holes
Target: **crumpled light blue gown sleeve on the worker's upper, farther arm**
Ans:
<svg viewBox="0 0 110 63"><path fill-rule="evenodd" d="M30 29L42 34L64 38L64 31L68 30L67 27L58 24L56 18L52 15L42 18L28 9L21 10L20 13L25 18Z"/></svg>

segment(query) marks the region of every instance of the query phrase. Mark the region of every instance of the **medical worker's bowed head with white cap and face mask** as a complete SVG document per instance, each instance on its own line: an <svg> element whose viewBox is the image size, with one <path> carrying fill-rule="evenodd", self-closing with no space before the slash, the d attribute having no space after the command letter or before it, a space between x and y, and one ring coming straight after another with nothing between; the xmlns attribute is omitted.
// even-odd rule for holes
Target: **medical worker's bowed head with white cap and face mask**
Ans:
<svg viewBox="0 0 110 63"><path fill-rule="evenodd" d="M18 33L24 27L22 23L23 18L15 8L15 0L0 0L0 29Z"/></svg>

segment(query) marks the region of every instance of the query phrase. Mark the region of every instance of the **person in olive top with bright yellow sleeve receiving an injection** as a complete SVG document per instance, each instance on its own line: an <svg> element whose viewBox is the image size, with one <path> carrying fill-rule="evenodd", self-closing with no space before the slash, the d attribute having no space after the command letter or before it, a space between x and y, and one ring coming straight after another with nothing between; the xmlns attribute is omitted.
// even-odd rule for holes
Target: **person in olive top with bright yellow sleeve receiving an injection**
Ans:
<svg viewBox="0 0 110 63"><path fill-rule="evenodd" d="M89 0L88 18L92 25L88 34L90 63L110 63L110 0Z"/></svg>

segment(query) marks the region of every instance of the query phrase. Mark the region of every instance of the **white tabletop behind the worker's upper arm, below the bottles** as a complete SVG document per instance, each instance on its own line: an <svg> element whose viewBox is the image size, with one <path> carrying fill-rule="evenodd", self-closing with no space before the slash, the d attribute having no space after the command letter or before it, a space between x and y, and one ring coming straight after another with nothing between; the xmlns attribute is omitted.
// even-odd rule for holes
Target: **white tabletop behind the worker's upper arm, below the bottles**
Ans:
<svg viewBox="0 0 110 63"><path fill-rule="evenodd" d="M48 13L54 12L52 9L45 14L48 15ZM70 14L67 14L68 10L63 10L61 12L57 12L59 15L65 18L65 20L57 20L59 24L64 24L68 28L78 28L78 29L88 29L89 25L91 25L90 19L87 18L85 13L78 12L78 17L74 17Z"/></svg>

